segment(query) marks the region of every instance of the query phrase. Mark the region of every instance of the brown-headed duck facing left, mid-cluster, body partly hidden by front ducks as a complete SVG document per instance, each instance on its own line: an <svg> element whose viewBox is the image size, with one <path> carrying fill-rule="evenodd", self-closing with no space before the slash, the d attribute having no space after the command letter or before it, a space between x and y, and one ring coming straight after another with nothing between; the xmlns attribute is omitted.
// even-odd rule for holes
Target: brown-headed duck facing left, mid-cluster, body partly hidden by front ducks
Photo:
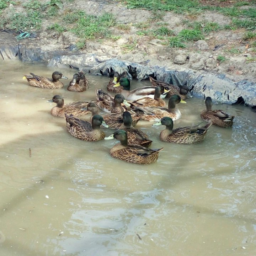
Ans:
<svg viewBox="0 0 256 256"><path fill-rule="evenodd" d="M100 109L98 108L97 104L94 102L89 102L85 108L82 110L89 110L91 112L90 121L92 117L96 114L99 114ZM139 116L136 113L130 114L132 117L132 126L136 126L142 116ZM108 113L103 115L105 123L108 125L108 128L119 129L123 124L123 114L122 113Z"/></svg>

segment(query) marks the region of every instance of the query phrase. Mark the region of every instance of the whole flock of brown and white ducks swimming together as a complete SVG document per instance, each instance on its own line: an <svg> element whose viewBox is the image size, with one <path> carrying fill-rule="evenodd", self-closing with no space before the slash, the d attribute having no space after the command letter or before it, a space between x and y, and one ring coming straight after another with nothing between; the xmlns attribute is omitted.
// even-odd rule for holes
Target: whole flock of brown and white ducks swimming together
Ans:
<svg viewBox="0 0 256 256"><path fill-rule="evenodd" d="M59 79L68 79L62 73L55 71L52 78L42 77L30 73L24 74L29 85L58 89L63 87ZM54 95L48 102L57 105L52 108L53 116L64 117L66 128L74 137L90 142L98 140L117 139L120 143L110 149L114 158L136 164L151 164L158 159L159 152L163 149L150 149L152 140L142 130L134 128L139 120L155 122L152 126L164 125L160 133L163 142L191 144L199 143L206 137L211 125L219 127L232 127L234 116L229 116L222 110L212 110L212 99L206 97L206 109L200 113L201 118L207 122L205 125L178 127L173 129L173 121L181 118L181 112L176 105L186 103L184 100L192 97L187 86L176 87L150 77L151 86L139 87L130 91L130 80L124 72L113 75L106 89L116 93L115 96L108 92L96 89L96 100L77 101L64 104L60 95ZM89 82L83 72L74 74L68 85L68 90L83 92L89 87ZM165 106L164 97L169 98ZM100 110L107 112L100 115ZM84 121L78 116L91 113L90 121ZM106 137L100 127L115 129L115 132Z"/></svg>

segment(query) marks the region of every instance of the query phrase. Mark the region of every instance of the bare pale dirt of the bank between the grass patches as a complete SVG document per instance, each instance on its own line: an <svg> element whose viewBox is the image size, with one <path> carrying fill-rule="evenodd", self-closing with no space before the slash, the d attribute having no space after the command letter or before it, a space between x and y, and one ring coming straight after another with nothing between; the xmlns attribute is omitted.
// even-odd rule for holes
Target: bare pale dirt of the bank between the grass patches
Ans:
<svg viewBox="0 0 256 256"><path fill-rule="evenodd" d="M21 1L24 2L24 1ZM210 1L201 0L203 5L217 5L223 7L231 7L236 1ZM255 6L242 6L240 8L250 8ZM118 1L74 1L73 4L65 4L62 12L66 9L83 10L88 14L100 15L103 12L110 12L115 15L119 23L130 26L130 30L124 31L112 28L111 32L114 36L122 36L117 41L101 38L96 35L97 39L87 41L85 48L81 53L95 53L102 59L118 58L136 63L146 63L147 65L164 66L170 70L193 70L208 71L214 74L225 74L226 77L234 82L243 79L255 81L256 62L249 62L247 58L256 57L255 48L251 47L251 42L243 39L244 29L240 30L224 30L208 34L205 40L199 40L188 45L187 48L177 49L168 48L162 45L162 40L149 36L138 36L137 32L141 29L136 28L134 24L146 22L152 16L148 10L127 9ZM22 7L17 7L17 12L24 11ZM220 25L229 24L231 18L226 17L214 11L206 11L201 15L193 17L186 15L178 15L173 12L165 12L165 16L161 22L166 22L166 27L174 30L175 33L180 32L185 25L182 20L192 19L193 21L206 20L209 22L218 22ZM58 22L58 20L56 20ZM148 29L158 28L157 22L150 23ZM34 40L23 39L17 42L14 35L1 32L0 43L2 45L25 44L26 46L39 46L42 50L65 50L70 45L75 44L78 38L71 32L58 33L48 30L47 28L53 22L44 20L42 30L37 32L37 38ZM134 42L137 39L135 48L130 52L125 52L123 46ZM232 54L230 49L239 50L239 54ZM220 62L217 58L219 55L225 57L226 61Z"/></svg>

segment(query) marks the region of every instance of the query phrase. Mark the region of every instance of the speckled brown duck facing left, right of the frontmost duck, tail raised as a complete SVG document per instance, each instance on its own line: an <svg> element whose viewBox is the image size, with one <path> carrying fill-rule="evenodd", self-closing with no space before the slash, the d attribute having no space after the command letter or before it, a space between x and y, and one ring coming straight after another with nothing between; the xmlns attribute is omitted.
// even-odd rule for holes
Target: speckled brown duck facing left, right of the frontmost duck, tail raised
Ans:
<svg viewBox="0 0 256 256"><path fill-rule="evenodd" d="M165 125L166 128L160 133L160 140L164 142L173 142L180 144L192 144L199 143L204 140L208 128L212 125L211 123L205 126L187 126L173 129L173 121L170 117L163 117L158 123L152 126Z"/></svg>

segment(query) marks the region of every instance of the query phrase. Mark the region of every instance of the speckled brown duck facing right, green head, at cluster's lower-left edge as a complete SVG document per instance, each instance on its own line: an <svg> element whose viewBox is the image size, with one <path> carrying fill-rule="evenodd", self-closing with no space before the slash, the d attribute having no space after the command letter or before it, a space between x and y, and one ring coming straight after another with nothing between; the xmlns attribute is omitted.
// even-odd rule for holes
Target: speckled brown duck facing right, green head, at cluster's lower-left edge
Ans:
<svg viewBox="0 0 256 256"><path fill-rule="evenodd" d="M66 127L72 136L90 142L105 138L105 133L100 129L100 126L108 128L108 125L104 122L102 116L95 115L91 123L74 117L73 114L68 115L65 113L65 118Z"/></svg>

